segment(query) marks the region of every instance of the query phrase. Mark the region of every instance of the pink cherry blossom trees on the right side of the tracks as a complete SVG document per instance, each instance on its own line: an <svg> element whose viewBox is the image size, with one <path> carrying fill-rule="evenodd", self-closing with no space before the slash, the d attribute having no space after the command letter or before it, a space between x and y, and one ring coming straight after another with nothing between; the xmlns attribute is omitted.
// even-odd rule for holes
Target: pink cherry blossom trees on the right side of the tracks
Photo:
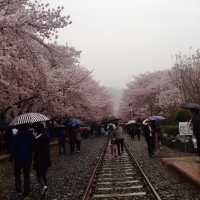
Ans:
<svg viewBox="0 0 200 200"><path fill-rule="evenodd" d="M169 115L181 104L179 89L174 85L170 71L157 71L134 77L124 92L119 115L130 119L130 105L134 117Z"/></svg>

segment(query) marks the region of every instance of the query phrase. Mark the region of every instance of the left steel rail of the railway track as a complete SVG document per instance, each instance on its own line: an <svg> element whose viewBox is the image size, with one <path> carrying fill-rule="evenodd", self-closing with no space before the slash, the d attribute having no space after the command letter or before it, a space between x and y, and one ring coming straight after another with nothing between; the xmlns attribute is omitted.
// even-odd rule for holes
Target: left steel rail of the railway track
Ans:
<svg viewBox="0 0 200 200"><path fill-rule="evenodd" d="M97 164L96 164L95 168L93 169L92 175L90 177L88 186L87 186L87 188L85 190L85 193L83 195L82 200L89 200L89 199L91 199L91 196L93 194L93 190L94 190L94 187L95 187L94 183L96 181L97 170L102 165L103 158L104 158L104 155L106 153L107 146L108 146L108 142L109 142L109 140L107 140L106 144L103 147L102 152L100 153L99 159L97 161Z"/></svg>

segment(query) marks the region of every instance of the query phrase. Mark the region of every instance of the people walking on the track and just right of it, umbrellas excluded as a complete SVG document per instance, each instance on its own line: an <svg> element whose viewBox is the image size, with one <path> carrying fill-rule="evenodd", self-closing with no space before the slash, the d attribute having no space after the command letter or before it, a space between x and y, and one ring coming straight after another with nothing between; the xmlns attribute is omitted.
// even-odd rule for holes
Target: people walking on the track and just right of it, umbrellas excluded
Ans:
<svg viewBox="0 0 200 200"><path fill-rule="evenodd" d="M110 147L112 157L120 156L124 150L124 133L127 133L131 140L137 136L140 141L141 135L144 136L147 143L148 155L150 158L155 157L156 149L161 146L161 131L158 123L155 120L135 121L131 124L110 124L108 133L111 137Z"/></svg>

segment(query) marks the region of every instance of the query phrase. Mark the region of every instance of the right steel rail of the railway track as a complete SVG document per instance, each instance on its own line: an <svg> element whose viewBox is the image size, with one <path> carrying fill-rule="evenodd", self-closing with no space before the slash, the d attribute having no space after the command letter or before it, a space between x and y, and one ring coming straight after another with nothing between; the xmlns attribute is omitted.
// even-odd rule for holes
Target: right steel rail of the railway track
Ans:
<svg viewBox="0 0 200 200"><path fill-rule="evenodd" d="M125 149L131 159L131 161L133 163L135 163L140 171L140 173L142 174L142 176L144 177L144 180L147 184L147 186L149 187L149 189L151 190L153 196L156 198L156 200L162 200L160 195L158 194L158 192L155 190L154 186L152 185L152 183L150 182L149 178L147 177L147 175L145 174L144 170L142 169L142 167L140 166L139 162L136 160L136 158L133 156L133 154L130 152L128 145L124 144Z"/></svg>

